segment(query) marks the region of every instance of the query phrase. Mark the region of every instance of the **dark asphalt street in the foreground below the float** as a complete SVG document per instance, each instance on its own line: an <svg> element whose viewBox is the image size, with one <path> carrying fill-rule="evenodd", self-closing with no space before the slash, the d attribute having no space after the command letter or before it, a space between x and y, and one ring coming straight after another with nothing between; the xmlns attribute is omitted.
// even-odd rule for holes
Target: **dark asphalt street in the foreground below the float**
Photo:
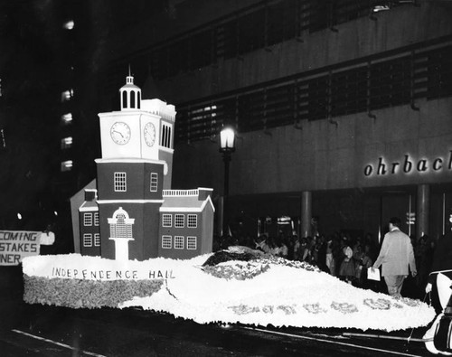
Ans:
<svg viewBox="0 0 452 357"><path fill-rule="evenodd" d="M340 329L195 324L138 309L27 305L18 267L2 267L2 356L375 356L428 355L411 331L386 334ZM411 338L421 338L424 328ZM345 334L372 334L349 337ZM375 336L379 337L375 337ZM383 336L403 339L387 339Z"/></svg>

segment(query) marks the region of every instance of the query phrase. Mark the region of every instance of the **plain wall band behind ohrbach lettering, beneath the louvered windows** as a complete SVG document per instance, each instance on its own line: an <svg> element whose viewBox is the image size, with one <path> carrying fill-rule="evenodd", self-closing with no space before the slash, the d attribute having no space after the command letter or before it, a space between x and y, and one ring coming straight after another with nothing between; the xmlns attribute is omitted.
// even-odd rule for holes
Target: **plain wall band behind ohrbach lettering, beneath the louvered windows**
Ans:
<svg viewBox="0 0 452 357"><path fill-rule="evenodd" d="M418 183L448 183L452 150L452 100L419 101L419 111L399 106L337 119L306 121L301 130L277 127L240 133L232 154L230 193L291 193ZM432 125L432 123L435 123ZM195 183L221 192L223 168L218 146L200 141L174 153L174 188ZM413 167L403 172L405 155ZM386 174L378 174L380 158ZM435 159L442 158L435 171ZM428 169L419 173L419 160ZM392 163L400 163L391 174ZM372 165L372 174L365 170Z"/></svg>

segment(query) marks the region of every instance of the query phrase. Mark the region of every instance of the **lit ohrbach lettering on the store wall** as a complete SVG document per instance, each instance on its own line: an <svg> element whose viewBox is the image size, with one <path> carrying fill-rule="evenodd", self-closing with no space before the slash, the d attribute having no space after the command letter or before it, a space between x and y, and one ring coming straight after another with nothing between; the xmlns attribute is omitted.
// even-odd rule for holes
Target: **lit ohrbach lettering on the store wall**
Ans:
<svg viewBox="0 0 452 357"><path fill-rule="evenodd" d="M410 173L438 173L440 171L452 170L452 150L449 150L448 158L435 157L434 159L414 159L410 155L405 155L401 161L388 163L383 157L378 158L376 164L367 164L364 167L364 176L387 176L391 174Z"/></svg>

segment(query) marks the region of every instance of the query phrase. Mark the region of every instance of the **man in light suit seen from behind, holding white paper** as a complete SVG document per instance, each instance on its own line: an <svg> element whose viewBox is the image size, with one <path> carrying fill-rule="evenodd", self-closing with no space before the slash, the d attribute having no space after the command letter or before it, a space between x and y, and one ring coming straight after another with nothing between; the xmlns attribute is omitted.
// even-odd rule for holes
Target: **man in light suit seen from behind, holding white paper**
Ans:
<svg viewBox="0 0 452 357"><path fill-rule="evenodd" d="M388 293L394 297L401 297L400 291L403 281L409 274L416 277L416 261L410 237L403 233L400 219L393 217L390 220L390 231L384 235L380 254L372 266L372 271L381 268L381 277L384 277Z"/></svg>

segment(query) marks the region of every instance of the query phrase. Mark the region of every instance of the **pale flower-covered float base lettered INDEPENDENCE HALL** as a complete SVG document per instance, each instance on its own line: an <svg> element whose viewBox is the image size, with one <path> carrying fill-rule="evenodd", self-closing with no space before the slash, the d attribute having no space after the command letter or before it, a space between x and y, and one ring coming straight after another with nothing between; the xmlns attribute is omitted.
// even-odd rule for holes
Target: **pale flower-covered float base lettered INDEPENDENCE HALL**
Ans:
<svg viewBox="0 0 452 357"><path fill-rule="evenodd" d="M304 262L247 257L204 265L154 258L118 262L78 254L24 258L24 300L70 307L141 306L200 324L404 330L432 307L353 287ZM232 256L234 257L234 256Z"/></svg>

